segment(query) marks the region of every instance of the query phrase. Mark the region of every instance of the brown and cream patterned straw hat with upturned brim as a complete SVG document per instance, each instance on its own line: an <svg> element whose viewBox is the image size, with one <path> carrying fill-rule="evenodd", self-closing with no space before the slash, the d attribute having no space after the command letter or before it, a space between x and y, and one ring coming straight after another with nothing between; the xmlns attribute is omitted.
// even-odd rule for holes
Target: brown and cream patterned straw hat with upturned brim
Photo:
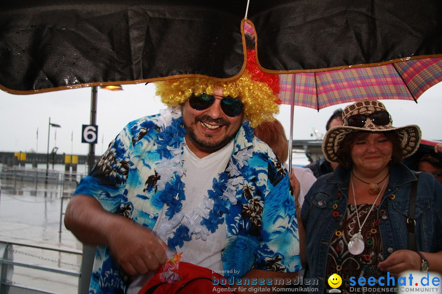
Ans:
<svg viewBox="0 0 442 294"><path fill-rule="evenodd" d="M401 139L402 155L408 157L416 152L419 147L421 132L420 128L415 125L406 125L394 127L391 117L388 115L388 122L385 125L376 125L368 118L368 115L378 111L385 111L384 104L378 100L361 100L345 107L342 113L342 126L335 126L327 131L322 143L322 152L328 161L336 162L336 151L341 144L345 135L352 132L369 131L369 132L385 132L395 130ZM350 126L349 119L354 115L366 115L366 122L362 127ZM352 118L353 119L353 118ZM350 121L352 121L350 119ZM375 120L376 121L376 120ZM351 124L351 123L350 123Z"/></svg>

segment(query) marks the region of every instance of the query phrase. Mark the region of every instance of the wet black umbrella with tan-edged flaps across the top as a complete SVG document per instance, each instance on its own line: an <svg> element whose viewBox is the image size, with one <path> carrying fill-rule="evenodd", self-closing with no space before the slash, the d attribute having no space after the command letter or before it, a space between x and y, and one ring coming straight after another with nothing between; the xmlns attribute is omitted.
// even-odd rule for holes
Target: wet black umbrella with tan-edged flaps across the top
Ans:
<svg viewBox="0 0 442 294"><path fill-rule="evenodd" d="M27 94L244 69L241 0L0 3L0 88ZM441 56L440 0L252 0L259 63L292 73ZM439 55L438 55L439 54Z"/></svg>

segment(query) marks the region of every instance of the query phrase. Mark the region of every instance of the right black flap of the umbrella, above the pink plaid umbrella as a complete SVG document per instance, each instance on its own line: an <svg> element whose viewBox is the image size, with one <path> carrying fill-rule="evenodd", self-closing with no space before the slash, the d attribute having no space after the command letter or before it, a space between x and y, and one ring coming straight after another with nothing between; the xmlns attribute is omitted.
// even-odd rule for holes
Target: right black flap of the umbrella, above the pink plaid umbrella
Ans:
<svg viewBox="0 0 442 294"><path fill-rule="evenodd" d="M441 15L432 0L252 0L249 8L258 60L276 72L441 54Z"/></svg>

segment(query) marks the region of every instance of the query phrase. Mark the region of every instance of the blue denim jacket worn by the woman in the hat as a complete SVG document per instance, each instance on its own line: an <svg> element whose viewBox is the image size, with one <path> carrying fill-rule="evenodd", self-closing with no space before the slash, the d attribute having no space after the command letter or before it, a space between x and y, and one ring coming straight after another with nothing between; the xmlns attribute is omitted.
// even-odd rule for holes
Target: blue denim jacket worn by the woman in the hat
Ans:
<svg viewBox="0 0 442 294"><path fill-rule="evenodd" d="M323 292L327 255L331 239L344 218L348 205L351 170L338 167L318 178L305 196L301 218L306 233L308 278L317 278ZM403 164L390 168L390 179L378 209L384 258L393 251L408 248L407 224L411 184L417 178ZM338 207L332 206L340 193ZM332 214L337 211L339 215ZM336 214L335 214L336 215ZM442 250L442 185L432 174L422 172L417 185L415 208L417 250Z"/></svg>

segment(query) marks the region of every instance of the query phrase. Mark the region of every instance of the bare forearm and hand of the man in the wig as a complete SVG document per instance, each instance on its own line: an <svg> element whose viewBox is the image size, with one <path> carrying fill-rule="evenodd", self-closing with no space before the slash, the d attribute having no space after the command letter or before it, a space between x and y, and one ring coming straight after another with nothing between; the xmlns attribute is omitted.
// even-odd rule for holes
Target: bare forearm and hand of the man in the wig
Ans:
<svg viewBox="0 0 442 294"><path fill-rule="evenodd" d="M64 223L81 242L109 246L112 256L130 275L156 270L166 262L168 247L152 230L105 211L94 197L73 196Z"/></svg>

